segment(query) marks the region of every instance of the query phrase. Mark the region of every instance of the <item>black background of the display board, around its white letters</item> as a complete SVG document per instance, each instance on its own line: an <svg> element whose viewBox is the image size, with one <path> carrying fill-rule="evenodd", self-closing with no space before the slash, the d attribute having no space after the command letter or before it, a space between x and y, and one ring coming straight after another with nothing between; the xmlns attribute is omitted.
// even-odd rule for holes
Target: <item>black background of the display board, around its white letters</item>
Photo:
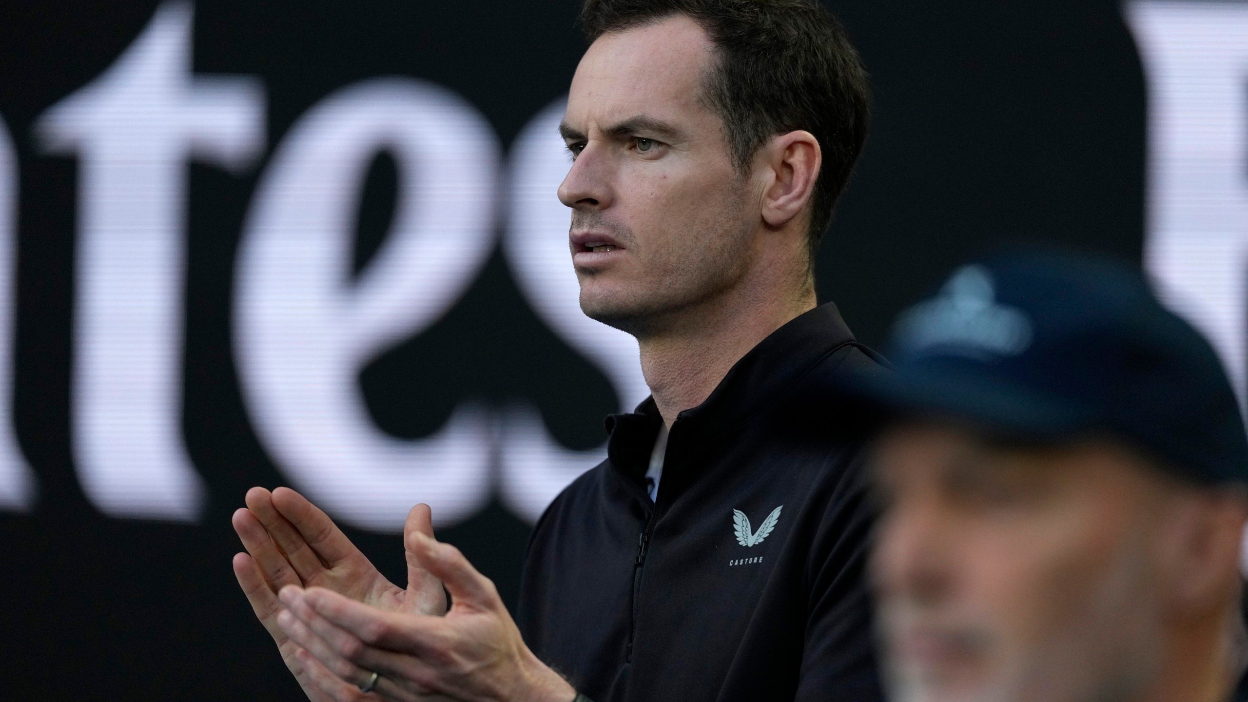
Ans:
<svg viewBox="0 0 1248 702"><path fill-rule="evenodd" d="M1138 262L1144 79L1117 0L837 0L871 71L875 127L819 259L819 292L861 340L968 256L1047 241ZM14 416L39 480L0 513L0 667L12 700L300 700L235 583L231 512L286 482L243 407L231 347L242 220L267 156L241 176L190 166L183 431L210 490L200 523L117 520L86 498L70 451L77 161L32 125L139 36L156 2L0 4L0 115L20 159ZM332 91L386 75L474 105L504 147L565 92L583 42L573 0L201 0L193 66L258 76L267 149ZM356 264L386 236L393 162L361 199ZM488 372L483 372L487 370ZM433 327L359 376L384 431L418 438L463 400L527 400L569 448L603 438L612 386L548 330L494 251ZM2 400L2 398L0 398ZM587 466L588 467L588 466ZM514 602L528 523L494 500L439 532ZM393 578L397 536L349 531Z"/></svg>

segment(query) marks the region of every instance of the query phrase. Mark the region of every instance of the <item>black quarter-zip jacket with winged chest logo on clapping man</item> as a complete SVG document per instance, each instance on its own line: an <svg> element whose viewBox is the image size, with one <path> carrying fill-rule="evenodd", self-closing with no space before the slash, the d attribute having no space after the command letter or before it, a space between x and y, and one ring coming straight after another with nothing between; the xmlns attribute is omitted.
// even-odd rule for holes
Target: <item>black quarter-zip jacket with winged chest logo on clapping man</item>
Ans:
<svg viewBox="0 0 1248 702"><path fill-rule="evenodd" d="M832 305L776 330L679 415L654 503L654 401L608 417L607 460L529 542L529 647L597 702L880 700L859 442L779 430L791 398L872 358Z"/></svg>

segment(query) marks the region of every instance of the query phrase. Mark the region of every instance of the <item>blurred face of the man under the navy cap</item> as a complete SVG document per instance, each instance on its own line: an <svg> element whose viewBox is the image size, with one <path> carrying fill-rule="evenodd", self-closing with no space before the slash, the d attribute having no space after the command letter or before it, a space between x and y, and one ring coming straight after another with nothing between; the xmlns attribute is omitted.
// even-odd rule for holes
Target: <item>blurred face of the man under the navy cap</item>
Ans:
<svg viewBox="0 0 1248 702"><path fill-rule="evenodd" d="M872 576L894 698L1124 700L1161 657L1173 487L1108 443L914 422L876 446Z"/></svg>

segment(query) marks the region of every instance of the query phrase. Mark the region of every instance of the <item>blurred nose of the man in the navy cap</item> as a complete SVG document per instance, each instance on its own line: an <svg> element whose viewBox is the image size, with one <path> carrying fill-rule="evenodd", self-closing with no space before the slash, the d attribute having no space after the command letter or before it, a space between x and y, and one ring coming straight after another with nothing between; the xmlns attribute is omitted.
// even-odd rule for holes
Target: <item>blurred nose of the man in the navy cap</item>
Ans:
<svg viewBox="0 0 1248 702"><path fill-rule="evenodd" d="M945 525L925 505L894 505L885 512L871 553L871 580L881 598L930 602L952 583L952 553L943 546Z"/></svg>

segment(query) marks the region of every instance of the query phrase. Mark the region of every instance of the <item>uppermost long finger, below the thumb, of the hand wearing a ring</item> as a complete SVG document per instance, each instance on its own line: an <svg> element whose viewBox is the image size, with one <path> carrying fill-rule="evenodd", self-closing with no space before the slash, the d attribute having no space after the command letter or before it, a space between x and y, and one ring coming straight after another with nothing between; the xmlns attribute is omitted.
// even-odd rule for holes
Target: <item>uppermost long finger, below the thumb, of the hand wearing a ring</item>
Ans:
<svg viewBox="0 0 1248 702"><path fill-rule="evenodd" d="M323 587L312 587L306 591L285 587L278 593L278 598L317 632L322 632L323 627L332 626L337 631L351 635L361 643L391 651L406 651L417 656L446 648L446 618L443 617L384 612ZM323 635L338 636L336 631L328 628L323 628ZM354 643L344 638L334 638L329 643L343 647L339 650L344 650L349 655L357 653L351 648Z"/></svg>

